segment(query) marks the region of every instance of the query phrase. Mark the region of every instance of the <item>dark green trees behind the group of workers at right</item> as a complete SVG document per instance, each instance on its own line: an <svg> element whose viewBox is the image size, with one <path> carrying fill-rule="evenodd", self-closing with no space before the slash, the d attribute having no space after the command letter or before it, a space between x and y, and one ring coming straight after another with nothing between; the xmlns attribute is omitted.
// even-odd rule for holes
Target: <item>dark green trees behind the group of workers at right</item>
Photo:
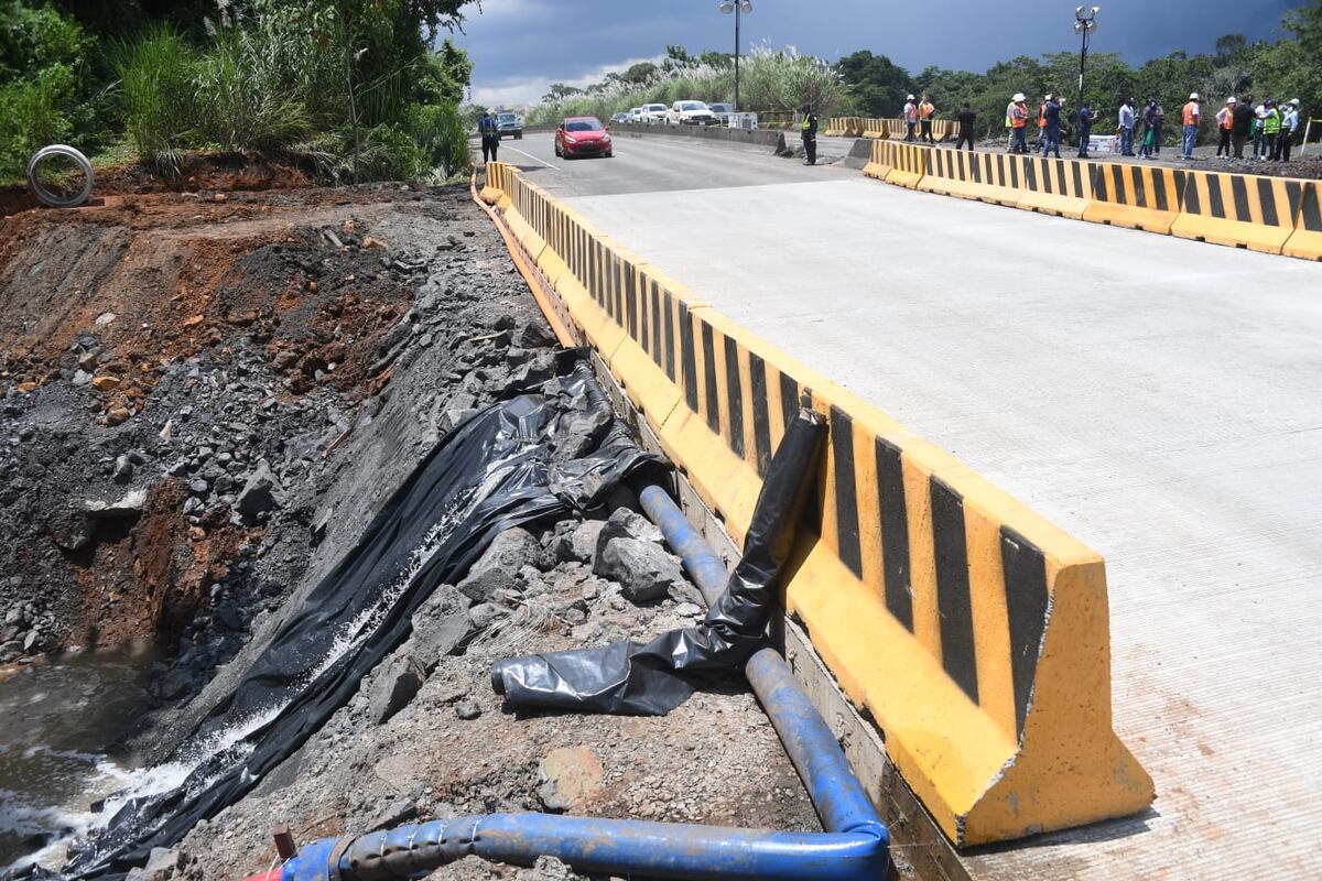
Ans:
<svg viewBox="0 0 1322 881"><path fill-rule="evenodd" d="M1286 12L1282 25L1289 36L1276 42L1248 42L1240 34L1225 34L1211 54L1175 52L1137 69L1118 54L1089 53L1084 96L1103 114L1099 131L1114 125L1124 98L1141 106L1155 96L1166 108L1167 123L1177 120L1165 128L1174 143L1179 137L1178 108L1191 91L1203 96L1207 115L1231 95L1241 98L1245 92L1259 100L1298 98L1306 114L1322 115L1322 0ZM1068 107L1079 106L1079 54L1073 52L1019 57L984 74L927 67L911 75L884 55L865 50L842 58L837 70L849 95L841 115L895 118L907 92L925 92L944 119L953 119L969 102L982 136L1003 133L1005 106L1017 91L1029 95L1030 102L1039 102L1048 91L1063 94ZM1207 125L1202 135L1215 137Z"/></svg>

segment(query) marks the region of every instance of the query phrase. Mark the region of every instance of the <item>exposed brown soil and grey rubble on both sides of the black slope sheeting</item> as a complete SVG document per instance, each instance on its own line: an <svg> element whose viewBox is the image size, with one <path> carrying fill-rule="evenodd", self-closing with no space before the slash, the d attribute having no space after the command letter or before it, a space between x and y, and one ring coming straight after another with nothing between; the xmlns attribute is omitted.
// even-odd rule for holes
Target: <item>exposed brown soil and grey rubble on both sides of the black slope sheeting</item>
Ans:
<svg viewBox="0 0 1322 881"><path fill-rule="evenodd" d="M467 188L151 193L0 221L0 663L159 641L160 708L128 746L161 758L436 441L553 347ZM276 822L299 841L522 810L818 828L738 678L661 719L501 707L496 658L701 616L691 585L629 601L567 544L576 527L543 524L508 589L447 612L464 645L438 654L415 629L145 877L262 872ZM576 876L469 857L435 877Z"/></svg>

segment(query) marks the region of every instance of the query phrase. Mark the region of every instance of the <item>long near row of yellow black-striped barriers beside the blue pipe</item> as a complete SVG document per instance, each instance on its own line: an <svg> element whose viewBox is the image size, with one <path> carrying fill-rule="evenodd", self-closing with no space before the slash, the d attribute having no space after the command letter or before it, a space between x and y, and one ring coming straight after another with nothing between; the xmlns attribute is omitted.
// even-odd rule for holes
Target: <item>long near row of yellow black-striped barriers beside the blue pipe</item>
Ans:
<svg viewBox="0 0 1322 881"><path fill-rule="evenodd" d="M882 152L894 172L925 165L929 151L875 144ZM787 610L957 844L1150 803L1151 781L1110 725L1095 552L493 165L488 186L509 188L497 214L554 287L557 314L736 542L795 408L828 416Z"/></svg>

